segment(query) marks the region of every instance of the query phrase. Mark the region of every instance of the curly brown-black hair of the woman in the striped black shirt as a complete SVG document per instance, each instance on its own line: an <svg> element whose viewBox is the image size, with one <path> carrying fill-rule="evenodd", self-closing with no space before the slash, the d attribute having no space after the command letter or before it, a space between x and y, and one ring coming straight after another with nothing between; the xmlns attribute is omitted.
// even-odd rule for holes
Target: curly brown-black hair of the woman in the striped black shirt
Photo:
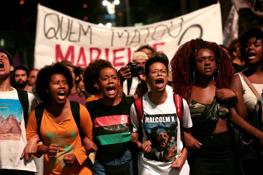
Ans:
<svg viewBox="0 0 263 175"><path fill-rule="evenodd" d="M96 59L89 63L83 73L83 82L85 90L92 95L98 93L98 89L94 87L95 81L97 80L97 71L103 66L111 66L110 61L104 59Z"/></svg>

